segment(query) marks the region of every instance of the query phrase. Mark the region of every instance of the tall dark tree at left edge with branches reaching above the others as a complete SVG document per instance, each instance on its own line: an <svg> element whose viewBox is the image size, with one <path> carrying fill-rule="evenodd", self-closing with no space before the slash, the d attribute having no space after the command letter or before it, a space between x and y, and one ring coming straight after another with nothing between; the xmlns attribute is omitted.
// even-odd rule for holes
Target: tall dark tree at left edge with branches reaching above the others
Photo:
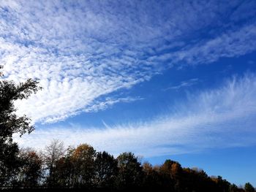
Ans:
<svg viewBox="0 0 256 192"><path fill-rule="evenodd" d="M36 93L39 90L37 84L37 80L31 79L15 84L5 80L0 72L0 185L10 183L18 169L18 145L13 142L12 135L20 134L21 137L34 130L30 118L15 114L14 101L27 99L31 93Z"/></svg>

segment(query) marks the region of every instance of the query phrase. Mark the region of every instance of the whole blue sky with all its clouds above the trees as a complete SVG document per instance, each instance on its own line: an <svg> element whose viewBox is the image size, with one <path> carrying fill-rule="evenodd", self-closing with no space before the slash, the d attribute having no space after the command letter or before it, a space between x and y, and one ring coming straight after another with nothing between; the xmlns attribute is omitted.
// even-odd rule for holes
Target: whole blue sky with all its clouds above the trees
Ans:
<svg viewBox="0 0 256 192"><path fill-rule="evenodd" d="M0 0L4 78L36 130L15 141L88 143L170 158L256 186L256 1Z"/></svg>

